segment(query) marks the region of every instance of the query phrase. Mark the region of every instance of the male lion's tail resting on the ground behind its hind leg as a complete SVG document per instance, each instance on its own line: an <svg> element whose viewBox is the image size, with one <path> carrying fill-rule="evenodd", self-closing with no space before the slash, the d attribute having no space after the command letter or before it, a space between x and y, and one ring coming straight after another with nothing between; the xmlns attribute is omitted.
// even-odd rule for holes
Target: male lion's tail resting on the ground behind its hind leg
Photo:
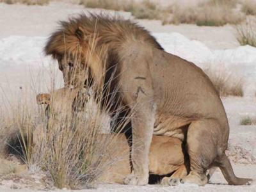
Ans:
<svg viewBox="0 0 256 192"><path fill-rule="evenodd" d="M236 177L233 171L233 168L231 166L231 163L228 157L226 156L225 152L223 153L223 156L218 158L216 163L217 163L216 165L220 168L221 172L223 173L228 184L237 186L237 185L250 184L250 181L252 181L252 179Z"/></svg>

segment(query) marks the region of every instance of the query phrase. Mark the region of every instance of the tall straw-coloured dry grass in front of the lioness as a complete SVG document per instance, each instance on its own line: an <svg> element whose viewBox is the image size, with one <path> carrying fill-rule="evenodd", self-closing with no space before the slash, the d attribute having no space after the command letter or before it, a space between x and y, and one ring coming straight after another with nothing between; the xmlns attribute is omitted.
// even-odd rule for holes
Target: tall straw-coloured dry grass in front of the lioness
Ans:
<svg viewBox="0 0 256 192"><path fill-rule="evenodd" d="M81 79L81 82L84 80ZM87 82L90 83L90 79ZM103 92L109 92L109 87L103 84L91 89L91 92L97 92L95 100L99 101L104 100ZM55 88L50 90L54 95ZM31 102L36 100L36 94L31 96L27 92L29 95L17 104L6 101L6 107L0 110L3 114L0 133L1 129L7 130L1 133L4 136L0 138L8 136L4 143L9 150L5 151L19 156L28 168L36 165L49 173L54 185L60 189L79 189L92 184L109 165L120 160L113 158L111 153L114 151L109 151L113 148L111 145L116 145L118 134L102 138L102 125L106 125L102 111L109 111L111 101L102 105L95 102L97 110L90 113L92 108L84 101L83 88L79 88L81 91L76 93L75 99L70 99L72 90L58 98L52 96L51 104L46 109ZM115 111L117 115L119 110L121 112L122 108ZM128 121L125 119L117 129L122 130ZM12 130L13 134L8 130Z"/></svg>

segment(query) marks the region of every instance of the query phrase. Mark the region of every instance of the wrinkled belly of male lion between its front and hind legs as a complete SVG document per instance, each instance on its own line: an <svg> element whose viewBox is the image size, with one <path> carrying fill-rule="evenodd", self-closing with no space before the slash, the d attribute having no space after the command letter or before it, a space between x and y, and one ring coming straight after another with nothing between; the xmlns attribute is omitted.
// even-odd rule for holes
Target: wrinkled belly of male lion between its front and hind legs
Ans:
<svg viewBox="0 0 256 192"><path fill-rule="evenodd" d="M184 140L182 127L191 123L189 118L172 115L157 115L153 134L171 136Z"/></svg>

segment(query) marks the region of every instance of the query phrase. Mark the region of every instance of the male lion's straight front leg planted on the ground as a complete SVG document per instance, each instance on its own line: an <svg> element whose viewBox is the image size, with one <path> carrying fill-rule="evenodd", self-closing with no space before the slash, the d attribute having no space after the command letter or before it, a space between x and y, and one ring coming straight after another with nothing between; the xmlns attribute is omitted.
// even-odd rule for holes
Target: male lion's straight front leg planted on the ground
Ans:
<svg viewBox="0 0 256 192"><path fill-rule="evenodd" d="M138 108L137 108L138 109ZM140 104L132 116L132 174L125 184L148 184L148 154L155 122L153 104Z"/></svg>

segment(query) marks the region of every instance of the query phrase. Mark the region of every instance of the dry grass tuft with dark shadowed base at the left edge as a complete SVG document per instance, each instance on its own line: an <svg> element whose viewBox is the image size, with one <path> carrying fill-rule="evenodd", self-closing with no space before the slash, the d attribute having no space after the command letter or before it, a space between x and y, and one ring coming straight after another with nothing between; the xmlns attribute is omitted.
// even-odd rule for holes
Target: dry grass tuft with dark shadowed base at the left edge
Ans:
<svg viewBox="0 0 256 192"><path fill-rule="evenodd" d="M4 94L3 94L4 95ZM19 156L23 163L32 164L32 132L36 127L35 111L31 106L30 97L19 95L19 100L10 102L8 99L1 106L1 154L14 154ZM36 113L38 114L38 113Z"/></svg>

